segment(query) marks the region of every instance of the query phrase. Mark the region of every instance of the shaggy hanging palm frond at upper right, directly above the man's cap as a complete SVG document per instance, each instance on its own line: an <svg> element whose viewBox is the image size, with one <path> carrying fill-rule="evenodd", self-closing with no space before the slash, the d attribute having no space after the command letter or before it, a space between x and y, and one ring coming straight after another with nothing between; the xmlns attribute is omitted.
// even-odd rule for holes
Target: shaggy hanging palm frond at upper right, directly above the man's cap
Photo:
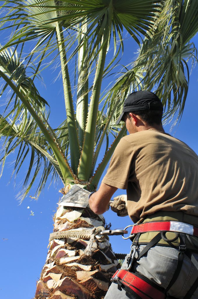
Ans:
<svg viewBox="0 0 198 299"><path fill-rule="evenodd" d="M112 90L116 86L121 88L126 78L131 78L133 84L133 74L138 72L141 74L139 88L156 92L165 107L165 118L176 112L178 118L181 117L188 92L190 62L193 67L197 61L197 49L193 43L189 43L192 33L196 34L198 31L197 19L188 6L191 6L191 1L165 1L136 61L128 66L129 70L112 87ZM193 9L198 10L197 1L193 1ZM182 31L182 22L186 21L185 14L188 20L192 20L193 29L189 31L189 35L188 31Z"/></svg>

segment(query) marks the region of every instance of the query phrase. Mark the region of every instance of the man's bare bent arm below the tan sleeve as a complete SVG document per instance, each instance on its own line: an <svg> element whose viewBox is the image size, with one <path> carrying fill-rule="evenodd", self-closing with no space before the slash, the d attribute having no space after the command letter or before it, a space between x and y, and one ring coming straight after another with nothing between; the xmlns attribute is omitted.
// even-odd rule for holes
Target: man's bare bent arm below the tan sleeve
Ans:
<svg viewBox="0 0 198 299"><path fill-rule="evenodd" d="M108 203L116 190L116 187L102 182L98 191L89 198L90 209L96 214L103 214L107 210Z"/></svg>

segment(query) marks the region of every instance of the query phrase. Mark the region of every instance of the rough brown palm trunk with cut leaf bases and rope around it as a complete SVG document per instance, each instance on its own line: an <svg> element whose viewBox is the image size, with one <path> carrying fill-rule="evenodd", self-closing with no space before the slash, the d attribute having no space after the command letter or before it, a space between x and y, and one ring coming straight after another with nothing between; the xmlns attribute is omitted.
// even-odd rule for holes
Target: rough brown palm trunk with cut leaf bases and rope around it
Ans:
<svg viewBox="0 0 198 299"><path fill-rule="evenodd" d="M50 236L35 299L103 298L118 266L109 238L94 238L93 229L104 226L103 216L89 207L59 206L54 220L54 232L60 233Z"/></svg>

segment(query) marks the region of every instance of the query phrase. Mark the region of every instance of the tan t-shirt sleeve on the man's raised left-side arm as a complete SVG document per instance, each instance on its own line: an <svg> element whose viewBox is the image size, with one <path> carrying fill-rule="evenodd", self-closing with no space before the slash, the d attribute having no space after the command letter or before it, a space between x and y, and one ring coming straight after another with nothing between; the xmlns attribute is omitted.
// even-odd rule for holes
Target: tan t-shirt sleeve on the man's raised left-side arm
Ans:
<svg viewBox="0 0 198 299"><path fill-rule="evenodd" d="M126 189L134 155L135 152L131 144L122 138L112 155L109 168L102 182L113 187Z"/></svg>

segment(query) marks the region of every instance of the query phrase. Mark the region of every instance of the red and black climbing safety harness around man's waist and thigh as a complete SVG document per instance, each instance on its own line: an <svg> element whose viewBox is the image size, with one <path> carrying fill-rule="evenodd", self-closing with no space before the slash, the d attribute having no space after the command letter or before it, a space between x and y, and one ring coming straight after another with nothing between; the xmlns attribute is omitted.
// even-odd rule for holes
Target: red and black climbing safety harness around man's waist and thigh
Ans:
<svg viewBox="0 0 198 299"><path fill-rule="evenodd" d="M145 248L141 251L138 258L135 258L136 249L138 246L138 240L141 234L146 232L159 232L151 241L145 246ZM167 239L166 232L175 232L175 238ZM195 259L192 252L186 248L186 238L190 242L190 244L197 248L197 246L192 242L189 235L198 237L198 228L194 225L190 225L183 222L177 221L153 221L153 222L145 222L141 224L134 224L132 226L132 231L130 234L130 239L132 240L131 252L127 259L127 268L126 270L119 269L115 272L112 277L112 281L116 281L118 283L118 289L121 290L123 288L126 292L131 294L133 298L136 299L164 299L167 297L167 292L173 286L177 277L182 268L182 262L184 258L184 254L188 256L191 262L194 264L198 271L198 262ZM146 277L141 275L140 273L132 273L129 270L132 267L133 260L140 260L151 247L157 245L158 242L163 239L164 241L170 243L174 242L176 239L180 239L179 245L179 253L178 260L175 273L168 284L166 289L157 286L157 284L152 283ZM158 244L160 245L160 244ZM173 245L172 245L173 246ZM175 247L175 246L173 246ZM190 290L187 292L183 299L190 299L198 286L198 277L191 286ZM174 298L174 297L167 297Z"/></svg>

